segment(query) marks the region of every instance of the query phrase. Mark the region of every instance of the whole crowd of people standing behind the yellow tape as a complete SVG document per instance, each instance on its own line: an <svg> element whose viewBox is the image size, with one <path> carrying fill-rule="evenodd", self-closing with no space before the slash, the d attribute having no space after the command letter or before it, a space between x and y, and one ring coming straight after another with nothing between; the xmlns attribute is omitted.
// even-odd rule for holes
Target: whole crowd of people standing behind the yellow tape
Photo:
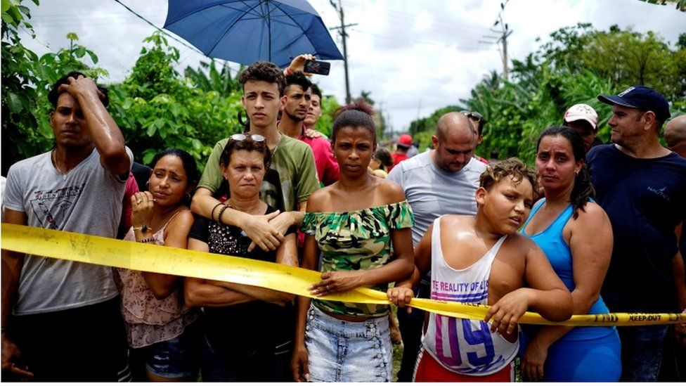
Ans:
<svg viewBox="0 0 686 386"><path fill-rule="evenodd" d="M389 382L391 304L329 297L361 286L398 307L399 381L658 379L682 326L518 321L686 311L686 119L663 147L661 94L598 96L608 144L571 106L531 168L475 155L475 111L442 116L422 153L408 134L379 146L363 102L326 138L306 59L240 73L248 122L202 174L174 148L136 164L107 90L70 73L48 94L56 146L10 168L3 221L300 266L321 272L310 297L2 250L4 380ZM490 308L425 315L414 297Z"/></svg>

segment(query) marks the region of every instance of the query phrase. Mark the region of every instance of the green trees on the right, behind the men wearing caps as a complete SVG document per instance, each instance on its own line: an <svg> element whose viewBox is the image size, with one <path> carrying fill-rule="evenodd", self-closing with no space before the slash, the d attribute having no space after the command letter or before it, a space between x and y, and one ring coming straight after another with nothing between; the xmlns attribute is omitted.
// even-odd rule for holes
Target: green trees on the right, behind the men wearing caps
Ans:
<svg viewBox="0 0 686 386"><path fill-rule="evenodd" d="M611 107L598 94L616 94L632 84L652 86L673 101L675 111L686 108L686 49L675 51L658 34L593 30L588 23L561 28L524 58L512 60L511 81L491 72L460 102L410 124L417 138L434 131L438 117L451 110L476 110L484 115L480 155L498 150L500 158L517 156L532 163L538 134L556 124L569 106L586 103L598 112L599 136L609 141ZM686 35L683 37L686 41Z"/></svg>

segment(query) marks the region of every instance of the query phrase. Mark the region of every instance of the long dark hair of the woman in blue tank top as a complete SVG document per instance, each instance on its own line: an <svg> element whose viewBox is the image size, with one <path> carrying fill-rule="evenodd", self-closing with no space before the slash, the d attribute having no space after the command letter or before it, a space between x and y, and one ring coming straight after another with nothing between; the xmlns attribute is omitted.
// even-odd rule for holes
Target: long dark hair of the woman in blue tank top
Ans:
<svg viewBox="0 0 686 386"><path fill-rule="evenodd" d="M538 154L538 146L541 146L541 139L545 136L562 136L569 141L571 152L574 154L574 161L582 161L581 169L574 177L574 188L571 189L569 200L574 210L574 219L578 217L578 210L583 210L583 207L591 199L595 199L595 188L590 179L590 172L586 168L586 150L583 146L583 139L578 131L567 126L552 126L543 130L541 136L538 137L536 143L536 154Z"/></svg>

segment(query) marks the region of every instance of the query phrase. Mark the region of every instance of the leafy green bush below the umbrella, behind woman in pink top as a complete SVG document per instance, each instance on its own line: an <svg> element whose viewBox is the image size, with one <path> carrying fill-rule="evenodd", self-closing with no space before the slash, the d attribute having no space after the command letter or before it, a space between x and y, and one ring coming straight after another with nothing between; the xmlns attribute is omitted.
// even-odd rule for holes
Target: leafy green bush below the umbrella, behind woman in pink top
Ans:
<svg viewBox="0 0 686 386"><path fill-rule="evenodd" d="M218 71L214 62L186 69L183 78L174 70L179 51L160 32L143 41L131 75L112 86L110 113L138 162L147 165L161 150L181 148L202 169L216 141L240 130L240 86L228 67Z"/></svg>

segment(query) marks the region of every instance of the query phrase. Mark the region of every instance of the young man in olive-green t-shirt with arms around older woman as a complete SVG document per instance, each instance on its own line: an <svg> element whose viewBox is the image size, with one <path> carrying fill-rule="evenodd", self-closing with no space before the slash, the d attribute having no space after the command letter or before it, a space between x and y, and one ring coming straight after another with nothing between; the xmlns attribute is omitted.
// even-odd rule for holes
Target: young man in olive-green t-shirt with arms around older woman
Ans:
<svg viewBox="0 0 686 386"><path fill-rule="evenodd" d="M243 87L242 103L250 118L247 134L264 136L272 152L271 163L262 182L260 197L279 212L252 215L228 207L219 221L238 226L263 250L276 250L284 232L301 223L309 195L319 188L312 150L306 143L281 134L276 116L284 94L285 77L278 66L269 62L255 62L239 77ZM217 198L226 194L226 184L219 168L219 156L228 138L217 142L207 160L205 171L193 195L190 207L207 219L219 204Z"/></svg>

